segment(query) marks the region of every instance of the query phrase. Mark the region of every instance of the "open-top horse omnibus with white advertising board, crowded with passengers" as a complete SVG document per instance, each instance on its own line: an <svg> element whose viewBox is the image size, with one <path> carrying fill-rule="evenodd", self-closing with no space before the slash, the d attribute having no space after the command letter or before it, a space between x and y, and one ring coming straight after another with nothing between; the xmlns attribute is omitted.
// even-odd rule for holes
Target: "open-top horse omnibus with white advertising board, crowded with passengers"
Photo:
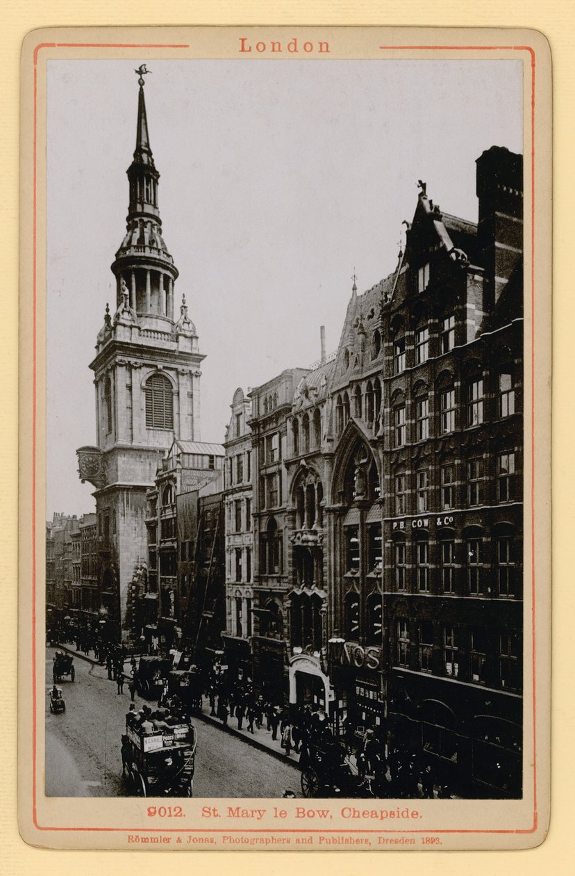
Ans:
<svg viewBox="0 0 575 876"><path fill-rule="evenodd" d="M191 797L197 735L193 724L144 733L127 726L122 737L126 792L132 797Z"/></svg>

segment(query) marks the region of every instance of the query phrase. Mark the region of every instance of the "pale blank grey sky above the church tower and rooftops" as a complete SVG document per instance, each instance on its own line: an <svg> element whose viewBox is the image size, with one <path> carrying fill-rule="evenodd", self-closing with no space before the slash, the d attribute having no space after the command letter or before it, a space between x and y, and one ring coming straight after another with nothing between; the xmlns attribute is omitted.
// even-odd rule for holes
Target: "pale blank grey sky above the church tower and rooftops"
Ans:
<svg viewBox="0 0 575 876"><path fill-rule="evenodd" d="M46 515L95 509L75 449L95 443L88 364L123 240L142 59L51 60L47 92ZM522 152L522 64L507 60L147 60L163 236L200 336L201 440L235 389L335 350L351 294L396 267L417 180L477 220L475 159Z"/></svg>

